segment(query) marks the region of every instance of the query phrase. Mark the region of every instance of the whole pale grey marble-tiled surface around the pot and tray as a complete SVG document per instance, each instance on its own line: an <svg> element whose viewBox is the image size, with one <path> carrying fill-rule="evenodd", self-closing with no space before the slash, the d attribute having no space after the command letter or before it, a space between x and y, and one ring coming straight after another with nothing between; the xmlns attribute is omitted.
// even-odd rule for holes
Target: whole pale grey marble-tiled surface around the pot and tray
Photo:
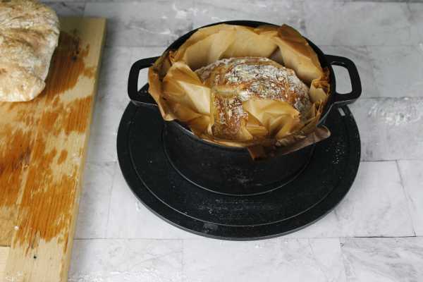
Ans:
<svg viewBox="0 0 423 282"><path fill-rule="evenodd" d="M103 16L108 33L69 281L423 281L423 3L419 1L54 1ZM362 97L357 178L324 219L281 238L192 235L133 197L116 160L128 71L183 33L229 19L288 23L352 59ZM142 82L146 81L143 73ZM336 68L339 92L349 79Z"/></svg>

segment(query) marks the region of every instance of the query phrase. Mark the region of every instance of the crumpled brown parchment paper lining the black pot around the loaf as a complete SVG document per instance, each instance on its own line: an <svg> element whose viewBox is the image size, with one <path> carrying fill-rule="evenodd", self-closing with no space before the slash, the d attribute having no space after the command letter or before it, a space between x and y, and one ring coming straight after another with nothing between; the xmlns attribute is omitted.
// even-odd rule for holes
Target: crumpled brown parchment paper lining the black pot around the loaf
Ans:
<svg viewBox="0 0 423 282"><path fill-rule="evenodd" d="M221 139L212 133L212 89L200 80L195 70L220 59L245 56L266 57L293 69L309 86L312 106L301 118L287 102L250 99L243 102L248 119L237 139ZM329 71L321 68L314 50L288 25L204 27L177 50L163 54L149 68L148 78L149 93L165 121L178 119L209 142L250 148L252 157L262 157L266 152L260 147L282 147L280 150L288 154L330 135L326 127L317 128L330 93Z"/></svg>

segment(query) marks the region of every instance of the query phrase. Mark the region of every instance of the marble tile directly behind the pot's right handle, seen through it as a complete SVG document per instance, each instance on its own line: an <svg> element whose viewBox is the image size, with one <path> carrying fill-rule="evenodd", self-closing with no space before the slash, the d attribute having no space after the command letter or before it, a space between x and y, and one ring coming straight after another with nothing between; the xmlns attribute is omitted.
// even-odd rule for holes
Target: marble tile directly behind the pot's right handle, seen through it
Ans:
<svg viewBox="0 0 423 282"><path fill-rule="evenodd" d="M362 97L383 96L376 87L376 81L373 74L373 66L370 61L369 53L366 47L362 46L321 46L324 54L343 56L355 63L362 84ZM336 66L336 90L338 93L347 93L351 91L351 82L348 71L345 68Z"/></svg>

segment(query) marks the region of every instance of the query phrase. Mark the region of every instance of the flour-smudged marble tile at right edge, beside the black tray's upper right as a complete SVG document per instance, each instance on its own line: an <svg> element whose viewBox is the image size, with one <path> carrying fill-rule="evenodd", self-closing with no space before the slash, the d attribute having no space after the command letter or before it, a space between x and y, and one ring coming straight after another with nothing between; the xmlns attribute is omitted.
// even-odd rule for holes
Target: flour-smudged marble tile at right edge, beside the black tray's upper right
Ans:
<svg viewBox="0 0 423 282"><path fill-rule="evenodd" d="M362 160L423 159L423 98L360 98L350 109Z"/></svg>

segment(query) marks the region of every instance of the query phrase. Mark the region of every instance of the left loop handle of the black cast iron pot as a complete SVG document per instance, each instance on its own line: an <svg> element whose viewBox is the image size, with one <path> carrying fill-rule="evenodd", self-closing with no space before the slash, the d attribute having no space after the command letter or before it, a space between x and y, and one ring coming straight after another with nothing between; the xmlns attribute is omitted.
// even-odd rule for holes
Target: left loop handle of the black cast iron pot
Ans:
<svg viewBox="0 0 423 282"><path fill-rule="evenodd" d="M156 108L156 101L148 93L148 84L141 87L138 90L138 76L143 68L149 68L153 63L159 59L159 57L152 57L147 59L141 59L136 61L129 71L128 78L128 95L130 100L135 106L148 106L150 108Z"/></svg>

